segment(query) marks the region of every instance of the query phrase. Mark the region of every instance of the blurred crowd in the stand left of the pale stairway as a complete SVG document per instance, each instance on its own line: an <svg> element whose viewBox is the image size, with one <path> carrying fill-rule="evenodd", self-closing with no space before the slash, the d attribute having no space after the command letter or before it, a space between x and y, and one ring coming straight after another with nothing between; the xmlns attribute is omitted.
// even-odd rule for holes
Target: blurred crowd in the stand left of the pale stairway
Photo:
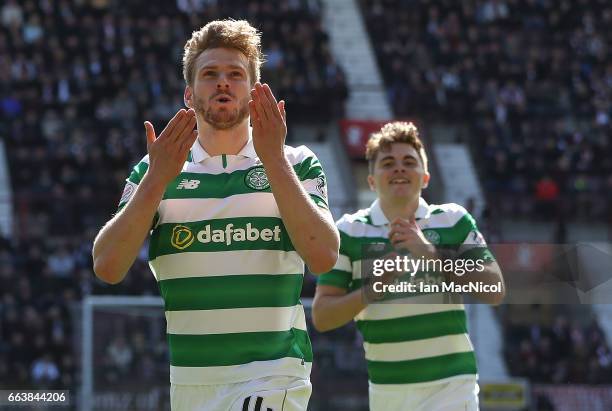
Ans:
<svg viewBox="0 0 612 411"><path fill-rule="evenodd" d="M121 285L101 285L91 244L146 152L143 121L161 130L183 106L181 58L192 30L216 18L248 19L264 33L262 78L286 100L292 124L343 115L347 87L320 6L2 2L0 139L16 220L0 241L0 386L73 387L72 307L92 293L158 294L144 252ZM129 362L120 342L110 346L109 364Z"/></svg>

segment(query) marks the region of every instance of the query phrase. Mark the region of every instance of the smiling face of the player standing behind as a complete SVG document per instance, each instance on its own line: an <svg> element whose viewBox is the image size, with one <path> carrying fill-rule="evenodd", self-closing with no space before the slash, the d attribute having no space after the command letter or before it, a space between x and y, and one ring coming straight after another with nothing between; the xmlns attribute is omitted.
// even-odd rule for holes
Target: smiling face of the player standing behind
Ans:
<svg viewBox="0 0 612 411"><path fill-rule="evenodd" d="M417 150L408 143L392 143L380 150L368 176L368 184L386 203L418 200L429 183L429 173Z"/></svg>

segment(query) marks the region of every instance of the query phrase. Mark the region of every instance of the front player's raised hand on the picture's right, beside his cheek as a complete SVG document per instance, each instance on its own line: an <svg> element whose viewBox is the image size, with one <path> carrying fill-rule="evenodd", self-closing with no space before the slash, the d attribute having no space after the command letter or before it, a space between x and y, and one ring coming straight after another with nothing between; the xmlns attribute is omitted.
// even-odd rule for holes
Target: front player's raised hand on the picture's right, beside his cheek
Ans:
<svg viewBox="0 0 612 411"><path fill-rule="evenodd" d="M287 136L285 102L276 101L267 84L255 83L251 90L249 110L253 125L253 145L262 163L276 161L284 156Z"/></svg>

